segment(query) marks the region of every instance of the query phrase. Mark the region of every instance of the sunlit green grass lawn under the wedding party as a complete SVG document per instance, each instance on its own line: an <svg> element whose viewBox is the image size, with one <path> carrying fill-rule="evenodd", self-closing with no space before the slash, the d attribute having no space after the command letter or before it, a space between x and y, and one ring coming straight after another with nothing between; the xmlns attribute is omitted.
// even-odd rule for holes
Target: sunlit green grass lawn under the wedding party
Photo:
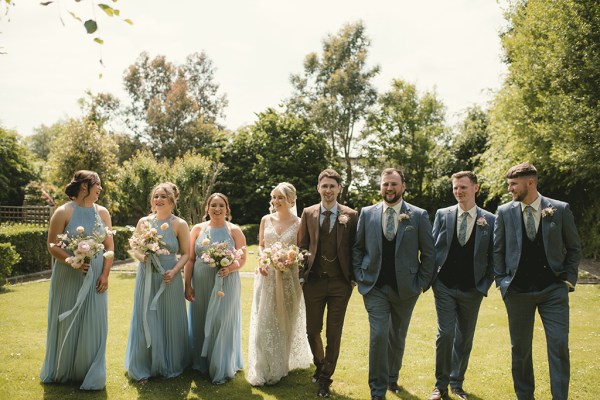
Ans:
<svg viewBox="0 0 600 400"><path fill-rule="evenodd" d="M246 269L256 265L252 260ZM152 380L140 387L127 379L123 357L133 304L135 275L113 274L109 292L107 385L101 392L82 392L77 384L42 385L39 370L46 340L49 281L9 286L0 292L0 399L310 399L317 387L312 370L294 371L279 384L253 388L240 372L231 382L214 386L187 371L174 379ZM247 354L252 279L242 279L243 336ZM600 286L580 285L571 294L570 399L595 398L600 378ZM388 400L427 398L435 383L436 318L431 291L418 301L407 338L400 385L404 391ZM346 316L342 351L332 386L337 399L368 399L369 328L362 297L355 291ZM536 322L534 363L536 398L551 398L545 339ZM470 399L514 399L510 376L510 343L504 305L491 290L481 306L465 389Z"/></svg>

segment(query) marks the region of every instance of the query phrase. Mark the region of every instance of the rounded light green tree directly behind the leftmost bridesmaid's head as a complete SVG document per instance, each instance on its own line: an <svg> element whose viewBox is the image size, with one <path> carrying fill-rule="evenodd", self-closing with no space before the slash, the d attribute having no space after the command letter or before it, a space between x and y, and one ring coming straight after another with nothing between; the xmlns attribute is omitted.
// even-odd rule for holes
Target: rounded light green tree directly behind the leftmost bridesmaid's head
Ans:
<svg viewBox="0 0 600 400"><path fill-rule="evenodd" d="M89 120L71 119L62 125L50 147L46 177L52 184L65 187L75 171L96 171L102 180L101 202L111 212L116 211L117 145L110 135Z"/></svg>

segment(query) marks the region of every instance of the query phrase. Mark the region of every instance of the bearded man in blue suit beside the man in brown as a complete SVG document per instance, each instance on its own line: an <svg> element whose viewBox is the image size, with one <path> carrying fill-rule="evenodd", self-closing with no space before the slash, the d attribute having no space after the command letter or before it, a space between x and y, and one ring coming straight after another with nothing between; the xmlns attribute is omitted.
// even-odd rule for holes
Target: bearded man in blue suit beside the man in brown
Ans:
<svg viewBox="0 0 600 400"><path fill-rule="evenodd" d="M352 251L358 291L369 314L371 399L400 392L398 376L408 325L419 294L431 282L434 263L427 211L402 199L404 173L381 174L383 201L361 210Z"/></svg>

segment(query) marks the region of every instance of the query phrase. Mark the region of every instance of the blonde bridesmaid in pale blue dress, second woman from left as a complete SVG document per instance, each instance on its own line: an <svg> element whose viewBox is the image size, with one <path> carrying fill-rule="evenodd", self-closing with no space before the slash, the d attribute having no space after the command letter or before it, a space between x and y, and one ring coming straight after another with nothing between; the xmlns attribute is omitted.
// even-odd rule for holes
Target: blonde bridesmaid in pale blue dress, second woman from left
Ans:
<svg viewBox="0 0 600 400"><path fill-rule="evenodd" d="M130 379L144 384L151 377L172 378L190 363L188 323L181 270L188 260L187 222L172 214L179 191L170 182L152 189L152 214L138 222L155 228L169 254L135 251L140 261L135 279L133 315L125 351ZM180 254L179 260L176 255Z"/></svg>

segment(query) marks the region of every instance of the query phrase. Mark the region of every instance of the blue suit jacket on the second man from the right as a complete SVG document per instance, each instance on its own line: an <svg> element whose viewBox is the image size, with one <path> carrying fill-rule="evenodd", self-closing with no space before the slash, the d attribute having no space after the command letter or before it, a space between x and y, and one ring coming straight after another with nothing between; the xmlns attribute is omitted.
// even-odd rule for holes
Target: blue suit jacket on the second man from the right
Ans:
<svg viewBox="0 0 600 400"><path fill-rule="evenodd" d="M433 222L433 241L435 243L435 273L433 281L446 262L452 239L456 233L456 217L458 205L440 208L435 213ZM484 218L486 225L477 223L480 218ZM475 217L475 227L472 235L475 235L475 248L473 251L473 269L475 273L475 288L487 296L488 289L494 280L494 260L493 260L493 232L494 214L477 207L477 216Z"/></svg>

